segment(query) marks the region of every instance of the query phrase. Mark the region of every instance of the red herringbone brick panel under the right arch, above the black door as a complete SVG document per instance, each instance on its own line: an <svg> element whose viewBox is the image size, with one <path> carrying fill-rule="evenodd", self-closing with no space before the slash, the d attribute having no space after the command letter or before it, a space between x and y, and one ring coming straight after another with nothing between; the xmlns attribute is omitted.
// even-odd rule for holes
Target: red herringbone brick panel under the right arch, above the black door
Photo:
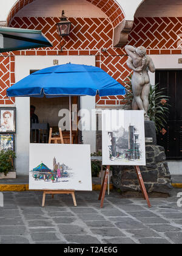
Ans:
<svg viewBox="0 0 182 256"><path fill-rule="evenodd" d="M149 54L181 54L182 18L135 18L129 44L143 45Z"/></svg>

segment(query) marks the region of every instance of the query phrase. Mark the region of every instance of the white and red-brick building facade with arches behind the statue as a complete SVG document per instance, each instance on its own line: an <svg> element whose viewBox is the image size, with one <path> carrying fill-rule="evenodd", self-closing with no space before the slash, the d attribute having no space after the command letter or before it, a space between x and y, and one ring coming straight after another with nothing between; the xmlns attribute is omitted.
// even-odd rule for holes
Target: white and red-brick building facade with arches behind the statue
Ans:
<svg viewBox="0 0 182 256"><path fill-rule="evenodd" d="M180 0L7 0L2 4L1 24L9 27L42 30L53 48L7 52L0 55L0 104L15 106L16 169L19 175L29 172L30 98L9 99L8 87L30 71L53 66L54 61L98 66L124 85L130 75L124 51L126 44L144 46L151 55L157 73L150 73L151 84L160 83L175 111L169 116L164 135L158 138L169 154L170 172L180 174L182 165L182 123L180 76L182 76L182 3ZM56 30L62 10L72 22L70 35L62 40ZM62 46L62 51L61 51ZM163 74L163 71L166 71ZM85 97L81 107L121 108L123 96ZM33 102L36 104L36 102ZM66 104L66 103L65 103ZM62 105L59 105L62 107ZM45 117L44 117L45 118ZM171 128L171 127L172 128ZM174 129L176 133L174 133ZM83 132L84 143L96 151L95 132ZM172 155L175 148L175 155ZM171 152L171 154L170 154ZM178 160L178 161L177 161ZM179 172L179 173L178 173Z"/></svg>

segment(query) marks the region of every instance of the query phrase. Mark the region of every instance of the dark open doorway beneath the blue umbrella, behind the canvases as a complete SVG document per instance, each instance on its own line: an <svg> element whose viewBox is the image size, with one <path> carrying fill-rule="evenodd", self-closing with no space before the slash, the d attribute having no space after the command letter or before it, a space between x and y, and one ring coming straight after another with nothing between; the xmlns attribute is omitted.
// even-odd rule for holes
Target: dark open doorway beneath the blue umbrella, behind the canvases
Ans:
<svg viewBox="0 0 182 256"><path fill-rule="evenodd" d="M30 74L35 73L36 71L38 70L30 70ZM71 101L73 143L82 144L82 132L77 128L79 121L77 113L81 108L80 97L73 96L71 97ZM55 136L59 135L59 127L61 127L64 143L69 144L70 141L68 138L66 139L66 137L68 137L70 132L69 130L64 130L64 127L60 126L60 120L64 118L64 116L59 116L59 110L69 110L69 97L30 98L30 110L32 106L35 107L35 115L38 116L38 121L37 119L32 121L30 115L30 142L48 143L50 127L52 127L53 135Z"/></svg>

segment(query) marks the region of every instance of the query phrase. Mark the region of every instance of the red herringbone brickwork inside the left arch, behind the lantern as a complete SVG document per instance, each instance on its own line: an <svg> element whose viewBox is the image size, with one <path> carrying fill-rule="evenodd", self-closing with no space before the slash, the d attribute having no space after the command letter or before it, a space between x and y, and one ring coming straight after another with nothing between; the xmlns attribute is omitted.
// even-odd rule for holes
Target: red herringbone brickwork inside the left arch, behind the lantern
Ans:
<svg viewBox="0 0 182 256"><path fill-rule="evenodd" d="M69 18L72 22L70 35L61 41L64 50L67 51L98 51L101 48L112 46L113 28L109 19L105 18ZM47 55L60 51L60 40L56 30L59 18L15 17L10 24L11 27L23 29L40 29L42 33L53 43L53 48L32 49L32 51L46 51ZM30 50L31 51L31 50ZM19 53L19 52L18 52ZM27 51L25 51L25 54ZM29 51L28 51L29 53ZM44 52L45 54L45 52ZM76 55L76 53L75 53Z"/></svg>

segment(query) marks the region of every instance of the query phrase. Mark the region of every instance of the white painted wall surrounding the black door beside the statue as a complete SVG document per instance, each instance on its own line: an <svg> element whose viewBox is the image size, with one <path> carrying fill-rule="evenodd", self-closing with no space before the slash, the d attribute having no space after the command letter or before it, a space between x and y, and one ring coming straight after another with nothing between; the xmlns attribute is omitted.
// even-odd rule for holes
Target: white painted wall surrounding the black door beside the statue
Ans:
<svg viewBox="0 0 182 256"><path fill-rule="evenodd" d="M181 59L181 55L150 55L153 60L156 69L182 69L182 64L178 64L178 59ZM155 84L155 73L150 73L150 82ZM167 161L170 174L181 175L182 174L182 161Z"/></svg>

